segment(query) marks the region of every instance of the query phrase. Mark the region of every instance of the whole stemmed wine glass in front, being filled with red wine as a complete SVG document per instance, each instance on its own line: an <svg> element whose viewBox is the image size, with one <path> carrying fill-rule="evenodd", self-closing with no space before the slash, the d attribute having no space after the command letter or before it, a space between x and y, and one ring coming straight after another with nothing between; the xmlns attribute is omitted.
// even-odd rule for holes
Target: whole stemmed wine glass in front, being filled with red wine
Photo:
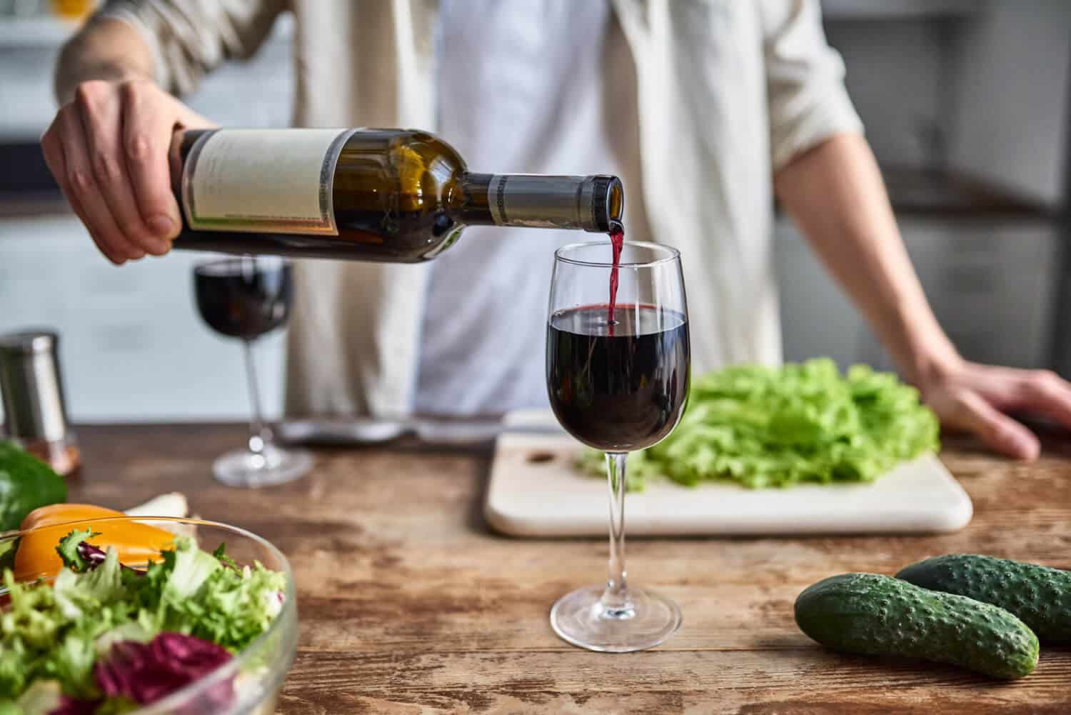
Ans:
<svg viewBox="0 0 1071 715"><path fill-rule="evenodd" d="M680 254L624 243L612 309L610 249L574 243L555 253L546 332L550 405L574 437L606 452L609 579L554 605L550 625L574 645L624 653L658 645L680 627L669 598L631 586L624 570L625 458L668 435L688 397L688 307Z"/></svg>

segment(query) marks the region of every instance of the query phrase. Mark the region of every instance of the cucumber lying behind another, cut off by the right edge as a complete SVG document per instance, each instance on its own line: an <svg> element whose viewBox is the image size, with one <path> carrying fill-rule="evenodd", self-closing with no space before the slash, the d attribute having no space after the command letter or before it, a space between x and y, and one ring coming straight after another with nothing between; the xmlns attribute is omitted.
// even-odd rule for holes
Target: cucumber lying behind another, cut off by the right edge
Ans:
<svg viewBox="0 0 1071 715"><path fill-rule="evenodd" d="M934 556L897 579L999 606L1030 626L1042 643L1071 643L1071 571L976 554Z"/></svg>

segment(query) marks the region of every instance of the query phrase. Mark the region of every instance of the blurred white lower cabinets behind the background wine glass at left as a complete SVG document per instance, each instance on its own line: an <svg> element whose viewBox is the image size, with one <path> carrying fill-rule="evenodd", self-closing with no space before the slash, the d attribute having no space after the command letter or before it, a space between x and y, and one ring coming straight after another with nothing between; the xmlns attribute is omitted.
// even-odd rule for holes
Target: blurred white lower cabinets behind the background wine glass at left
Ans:
<svg viewBox="0 0 1071 715"><path fill-rule="evenodd" d="M112 266L73 215L0 221L0 331L49 327L77 421L246 419L242 351L200 321L176 251ZM266 409L282 406L284 336L258 341Z"/></svg>

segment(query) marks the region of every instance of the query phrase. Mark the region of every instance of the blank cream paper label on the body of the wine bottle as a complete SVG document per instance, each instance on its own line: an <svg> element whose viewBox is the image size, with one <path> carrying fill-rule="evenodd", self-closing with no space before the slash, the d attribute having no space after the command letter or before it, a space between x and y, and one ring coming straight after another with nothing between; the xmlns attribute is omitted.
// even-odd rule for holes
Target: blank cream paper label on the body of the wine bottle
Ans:
<svg viewBox="0 0 1071 715"><path fill-rule="evenodd" d="M195 230L337 236L335 164L356 130L206 132L182 169L182 204Z"/></svg>

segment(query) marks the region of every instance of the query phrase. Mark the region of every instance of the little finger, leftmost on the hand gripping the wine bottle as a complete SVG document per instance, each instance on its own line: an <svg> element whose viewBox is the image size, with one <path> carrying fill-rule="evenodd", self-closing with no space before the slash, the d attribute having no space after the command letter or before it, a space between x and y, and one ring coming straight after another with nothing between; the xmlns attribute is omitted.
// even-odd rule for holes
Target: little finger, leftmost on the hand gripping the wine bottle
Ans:
<svg viewBox="0 0 1071 715"><path fill-rule="evenodd" d="M57 117L66 168L64 176L70 192L67 197L74 199L72 208L94 239L108 248L105 255L114 263L121 263L116 260L117 257L130 260L140 258L145 256L145 251L132 243L119 229L107 202L101 195L81 120L76 111L72 105L67 105Z"/></svg>

